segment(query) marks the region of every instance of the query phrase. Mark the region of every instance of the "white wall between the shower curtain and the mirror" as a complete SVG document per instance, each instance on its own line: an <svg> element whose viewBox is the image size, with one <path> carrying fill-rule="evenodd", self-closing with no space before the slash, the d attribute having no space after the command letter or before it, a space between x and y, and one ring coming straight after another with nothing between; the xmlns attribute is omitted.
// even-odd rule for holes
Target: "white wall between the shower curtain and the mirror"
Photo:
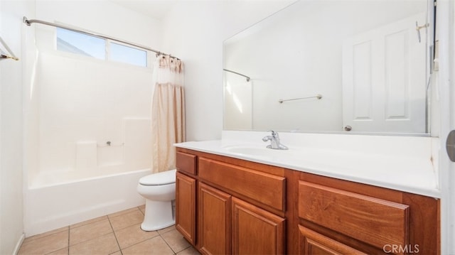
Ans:
<svg viewBox="0 0 455 255"><path fill-rule="evenodd" d="M188 141L220 139L223 40L293 1L182 1L164 20L163 51L186 64Z"/></svg>

